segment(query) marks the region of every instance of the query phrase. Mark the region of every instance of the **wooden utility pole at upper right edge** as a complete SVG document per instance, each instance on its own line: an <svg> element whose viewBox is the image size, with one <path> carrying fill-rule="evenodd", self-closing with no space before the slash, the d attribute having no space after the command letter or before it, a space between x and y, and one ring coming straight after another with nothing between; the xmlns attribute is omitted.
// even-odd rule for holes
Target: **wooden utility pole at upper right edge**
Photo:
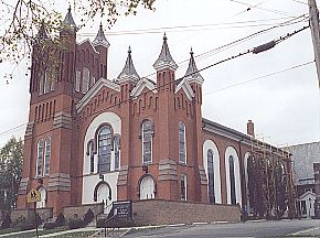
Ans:
<svg viewBox="0 0 320 238"><path fill-rule="evenodd" d="M316 67L318 74L318 83L320 88L320 35L319 35L319 10L316 0L308 0L309 21L314 51Z"/></svg>

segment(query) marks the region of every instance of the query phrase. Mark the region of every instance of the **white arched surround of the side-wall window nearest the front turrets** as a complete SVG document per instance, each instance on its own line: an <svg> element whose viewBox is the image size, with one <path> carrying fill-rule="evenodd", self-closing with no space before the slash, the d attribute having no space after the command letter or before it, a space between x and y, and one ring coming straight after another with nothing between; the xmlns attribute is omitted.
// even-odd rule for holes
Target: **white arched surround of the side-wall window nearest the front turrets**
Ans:
<svg viewBox="0 0 320 238"><path fill-rule="evenodd" d="M212 140L204 141L204 143L203 143L203 166L204 166L205 175L206 175L206 178L207 178L207 185L209 185L207 150L212 150L212 152L213 152L215 203L222 204L221 175L220 175L220 153L218 153L216 144ZM209 192L207 192L207 196L209 196Z"/></svg>

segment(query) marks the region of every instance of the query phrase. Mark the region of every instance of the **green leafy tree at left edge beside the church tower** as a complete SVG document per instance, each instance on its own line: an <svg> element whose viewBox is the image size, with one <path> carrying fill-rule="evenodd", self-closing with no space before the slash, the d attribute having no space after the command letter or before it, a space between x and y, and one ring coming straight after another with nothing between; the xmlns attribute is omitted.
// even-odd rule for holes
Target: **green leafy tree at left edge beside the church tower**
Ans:
<svg viewBox="0 0 320 238"><path fill-rule="evenodd" d="M15 208L22 169L22 140L11 138L0 149L0 209Z"/></svg>

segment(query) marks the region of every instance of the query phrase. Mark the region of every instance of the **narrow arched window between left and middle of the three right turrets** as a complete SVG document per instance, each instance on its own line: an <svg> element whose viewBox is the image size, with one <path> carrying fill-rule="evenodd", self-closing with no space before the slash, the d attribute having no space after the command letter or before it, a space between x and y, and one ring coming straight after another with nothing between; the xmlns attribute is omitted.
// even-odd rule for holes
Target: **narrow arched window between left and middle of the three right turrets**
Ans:
<svg viewBox="0 0 320 238"><path fill-rule="evenodd" d="M150 120L142 122L142 163L152 162L152 123Z"/></svg>

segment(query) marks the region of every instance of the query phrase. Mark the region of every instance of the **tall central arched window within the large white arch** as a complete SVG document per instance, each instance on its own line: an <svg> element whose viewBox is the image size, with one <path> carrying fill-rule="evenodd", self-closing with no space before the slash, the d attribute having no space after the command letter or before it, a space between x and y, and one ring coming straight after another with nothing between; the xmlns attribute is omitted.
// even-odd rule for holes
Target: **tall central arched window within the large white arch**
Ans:
<svg viewBox="0 0 320 238"><path fill-rule="evenodd" d="M104 126L98 133L98 173L110 171L111 141L111 130L108 126Z"/></svg>

